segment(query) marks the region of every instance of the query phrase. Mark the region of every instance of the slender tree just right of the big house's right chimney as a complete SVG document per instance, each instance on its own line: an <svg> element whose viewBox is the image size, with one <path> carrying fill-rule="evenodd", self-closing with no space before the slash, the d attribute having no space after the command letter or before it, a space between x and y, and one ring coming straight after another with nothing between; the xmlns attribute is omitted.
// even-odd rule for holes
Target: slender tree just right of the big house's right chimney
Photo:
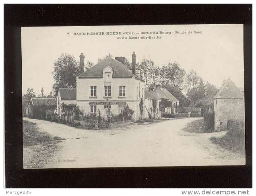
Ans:
<svg viewBox="0 0 256 196"><path fill-rule="evenodd" d="M143 59L139 64L141 70L141 77L145 81L145 87L147 88L148 83L152 83L151 76L154 72L154 62L152 60Z"/></svg>

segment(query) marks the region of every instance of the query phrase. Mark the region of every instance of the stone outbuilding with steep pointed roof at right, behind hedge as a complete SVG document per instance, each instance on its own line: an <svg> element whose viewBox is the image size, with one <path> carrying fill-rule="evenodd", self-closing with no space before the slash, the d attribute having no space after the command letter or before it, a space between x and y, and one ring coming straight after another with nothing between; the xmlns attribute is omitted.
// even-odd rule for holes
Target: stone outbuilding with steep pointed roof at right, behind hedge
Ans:
<svg viewBox="0 0 256 196"><path fill-rule="evenodd" d="M244 120L244 94L230 80L226 81L219 92L213 97L215 112L215 130L227 128L227 120Z"/></svg>

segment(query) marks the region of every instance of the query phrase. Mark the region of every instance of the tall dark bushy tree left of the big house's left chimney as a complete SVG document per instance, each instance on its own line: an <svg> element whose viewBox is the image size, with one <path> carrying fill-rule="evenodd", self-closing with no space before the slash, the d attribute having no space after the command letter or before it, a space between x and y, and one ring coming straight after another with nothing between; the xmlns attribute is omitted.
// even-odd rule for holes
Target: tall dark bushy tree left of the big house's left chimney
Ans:
<svg viewBox="0 0 256 196"><path fill-rule="evenodd" d="M55 97L58 95L59 88L75 88L76 76L79 74L78 62L69 54L61 54L60 58L54 62L52 72L55 83L53 89Z"/></svg>

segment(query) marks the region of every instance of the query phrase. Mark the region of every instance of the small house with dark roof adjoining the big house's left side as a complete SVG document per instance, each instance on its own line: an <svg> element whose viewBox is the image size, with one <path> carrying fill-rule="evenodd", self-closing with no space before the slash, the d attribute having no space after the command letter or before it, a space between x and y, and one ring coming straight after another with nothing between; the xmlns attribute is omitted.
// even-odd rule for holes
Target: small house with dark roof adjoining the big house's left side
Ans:
<svg viewBox="0 0 256 196"><path fill-rule="evenodd" d="M60 88L57 96L57 114L62 115L61 105L76 104L76 89L75 88Z"/></svg>

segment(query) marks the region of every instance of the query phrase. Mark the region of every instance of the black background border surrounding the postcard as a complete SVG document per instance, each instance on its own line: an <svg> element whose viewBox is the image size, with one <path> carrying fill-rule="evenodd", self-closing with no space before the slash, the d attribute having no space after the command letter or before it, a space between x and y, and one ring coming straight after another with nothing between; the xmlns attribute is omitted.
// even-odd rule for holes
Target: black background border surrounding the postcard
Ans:
<svg viewBox="0 0 256 196"><path fill-rule="evenodd" d="M246 165L23 169L21 28L244 24ZM252 4L4 4L6 188L252 188Z"/></svg>

